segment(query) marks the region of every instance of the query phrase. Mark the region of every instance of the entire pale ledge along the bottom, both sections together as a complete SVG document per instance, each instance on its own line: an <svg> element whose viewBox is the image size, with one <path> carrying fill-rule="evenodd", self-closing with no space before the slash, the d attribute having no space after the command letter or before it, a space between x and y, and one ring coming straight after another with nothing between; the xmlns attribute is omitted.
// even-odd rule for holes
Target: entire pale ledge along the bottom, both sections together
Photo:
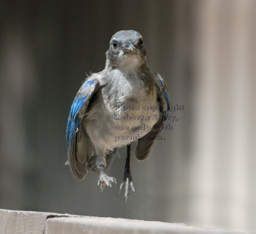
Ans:
<svg viewBox="0 0 256 234"><path fill-rule="evenodd" d="M122 218L99 218L31 211L0 209L1 234L238 234L224 230L196 228L183 223L163 223Z"/></svg>

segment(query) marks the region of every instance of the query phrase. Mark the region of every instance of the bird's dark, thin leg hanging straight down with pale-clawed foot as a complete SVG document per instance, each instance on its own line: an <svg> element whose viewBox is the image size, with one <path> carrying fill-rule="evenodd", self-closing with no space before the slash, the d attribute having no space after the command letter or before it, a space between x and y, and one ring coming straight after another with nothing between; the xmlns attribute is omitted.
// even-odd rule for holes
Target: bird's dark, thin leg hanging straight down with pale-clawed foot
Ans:
<svg viewBox="0 0 256 234"><path fill-rule="evenodd" d="M123 185L125 184L125 193L124 193L125 201L127 201L127 198L128 198L129 185L132 188L132 191L134 192L134 194L136 194L133 181L132 181L132 174L130 172L130 152L131 152L131 144L127 144L127 157L126 157L126 163L123 169L123 182L120 185L120 191L119 191L121 192Z"/></svg>

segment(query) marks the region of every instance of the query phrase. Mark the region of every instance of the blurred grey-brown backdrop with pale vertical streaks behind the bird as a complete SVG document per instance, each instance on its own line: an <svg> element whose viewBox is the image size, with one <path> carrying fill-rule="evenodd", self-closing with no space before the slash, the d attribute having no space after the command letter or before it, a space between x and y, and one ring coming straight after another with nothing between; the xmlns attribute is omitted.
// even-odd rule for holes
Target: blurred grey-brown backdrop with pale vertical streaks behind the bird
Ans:
<svg viewBox="0 0 256 234"><path fill-rule="evenodd" d="M0 1L0 208L256 230L256 1ZM178 121L149 159L126 149L100 192L66 161L69 109L110 37L134 29L165 78ZM134 150L134 144L133 144Z"/></svg>

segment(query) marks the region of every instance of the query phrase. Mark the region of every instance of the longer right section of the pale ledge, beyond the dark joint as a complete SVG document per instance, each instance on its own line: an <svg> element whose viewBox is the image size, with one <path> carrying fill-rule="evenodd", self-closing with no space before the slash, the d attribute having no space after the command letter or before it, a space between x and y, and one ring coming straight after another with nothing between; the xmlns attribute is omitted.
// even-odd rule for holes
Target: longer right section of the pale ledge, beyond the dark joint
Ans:
<svg viewBox="0 0 256 234"><path fill-rule="evenodd" d="M196 228L183 223L163 223L152 221L139 221L121 218L99 217L62 217L52 218L47 221L47 234L52 233L97 233L97 234L190 234L190 233L239 233L225 232L224 230ZM241 233L241 232L240 232Z"/></svg>

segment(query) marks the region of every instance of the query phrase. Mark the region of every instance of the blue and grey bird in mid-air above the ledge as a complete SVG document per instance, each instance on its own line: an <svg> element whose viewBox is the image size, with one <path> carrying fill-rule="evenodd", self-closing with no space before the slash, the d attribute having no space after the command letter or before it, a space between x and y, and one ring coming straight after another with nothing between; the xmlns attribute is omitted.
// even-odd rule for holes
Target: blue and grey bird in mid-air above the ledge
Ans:
<svg viewBox="0 0 256 234"><path fill-rule="evenodd" d="M102 191L117 183L106 170L117 149L127 146L120 184L120 191L125 185L126 201L129 187L136 193L130 171L131 143L137 141L136 159L146 160L170 109L166 82L147 65L146 56L139 32L114 33L104 70L91 73L83 82L73 99L66 128L73 177L83 180L89 171L99 173Z"/></svg>

